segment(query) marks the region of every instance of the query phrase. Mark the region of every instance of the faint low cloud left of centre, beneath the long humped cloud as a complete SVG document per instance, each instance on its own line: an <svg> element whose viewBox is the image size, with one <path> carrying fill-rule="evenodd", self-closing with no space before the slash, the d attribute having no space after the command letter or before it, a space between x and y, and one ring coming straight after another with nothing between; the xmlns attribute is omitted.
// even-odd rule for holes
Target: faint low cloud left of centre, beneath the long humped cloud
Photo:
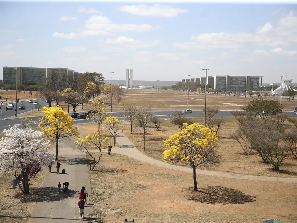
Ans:
<svg viewBox="0 0 297 223"><path fill-rule="evenodd" d="M145 48L150 46L159 45L159 40L153 40L153 41L141 41L141 40L135 40L132 38L128 38L125 36L120 36L116 39L108 38L105 41L102 41L102 43L107 45L113 45L113 46L120 46L124 48Z"/></svg>

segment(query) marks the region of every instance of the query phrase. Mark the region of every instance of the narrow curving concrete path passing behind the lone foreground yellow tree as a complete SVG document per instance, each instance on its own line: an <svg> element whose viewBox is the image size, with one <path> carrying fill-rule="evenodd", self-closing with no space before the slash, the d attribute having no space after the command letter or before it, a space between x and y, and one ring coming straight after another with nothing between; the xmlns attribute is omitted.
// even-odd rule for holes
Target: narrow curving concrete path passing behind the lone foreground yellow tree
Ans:
<svg viewBox="0 0 297 223"><path fill-rule="evenodd" d="M193 170L189 169L188 167L181 167L176 165L170 165L164 163L159 160L155 160L146 156L145 154L141 153L133 143L125 136L123 133L119 134L116 138L119 146L113 147L112 153L119 153L125 156L129 156L131 158L158 166L158 167L165 167L168 169L175 169L184 172L192 173ZM106 150L107 151L107 150ZM225 173L225 172L218 172L218 171L210 171L210 170L196 170L197 174L204 174L204 175L212 175L218 177L226 177L226 178L237 178L237 179L245 179L245 180L263 180L263 181L275 181L275 182L287 182L287 183L297 183L297 178L280 178L280 177L265 177L265 176L254 176L254 175L243 175L243 174L236 174L236 173Z"/></svg>

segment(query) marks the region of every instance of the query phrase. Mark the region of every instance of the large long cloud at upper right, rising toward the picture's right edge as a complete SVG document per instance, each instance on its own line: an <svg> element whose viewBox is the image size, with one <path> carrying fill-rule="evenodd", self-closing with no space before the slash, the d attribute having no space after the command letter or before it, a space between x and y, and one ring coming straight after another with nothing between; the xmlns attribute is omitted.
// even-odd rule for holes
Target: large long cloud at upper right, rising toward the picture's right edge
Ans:
<svg viewBox="0 0 297 223"><path fill-rule="evenodd" d="M247 45L283 46L296 42L297 17L291 11L279 20L275 28L266 23L255 33L204 33L190 38L191 41L174 43L173 47L183 49L230 49Z"/></svg>

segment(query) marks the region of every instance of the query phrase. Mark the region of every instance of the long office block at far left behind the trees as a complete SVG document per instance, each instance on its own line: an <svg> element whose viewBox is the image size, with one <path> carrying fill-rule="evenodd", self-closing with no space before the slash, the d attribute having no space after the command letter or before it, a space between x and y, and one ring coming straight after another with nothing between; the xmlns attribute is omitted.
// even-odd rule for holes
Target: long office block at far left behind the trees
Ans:
<svg viewBox="0 0 297 223"><path fill-rule="evenodd" d="M16 72L15 68L19 70ZM41 85L46 82L46 78L53 72L65 72L70 71L74 74L74 70L68 70L67 68L47 68L47 67L3 67L3 80L4 84L15 84L16 74L18 78L18 84L37 84ZM78 73L78 72L77 72ZM7 80L6 80L7 79Z"/></svg>

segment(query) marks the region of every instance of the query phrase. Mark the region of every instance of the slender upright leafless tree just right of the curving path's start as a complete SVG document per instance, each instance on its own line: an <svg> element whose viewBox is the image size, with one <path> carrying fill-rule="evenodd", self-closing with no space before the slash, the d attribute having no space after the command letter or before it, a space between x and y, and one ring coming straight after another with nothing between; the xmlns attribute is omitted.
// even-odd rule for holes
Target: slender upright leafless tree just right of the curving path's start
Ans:
<svg viewBox="0 0 297 223"><path fill-rule="evenodd" d="M138 126L142 128L140 135L143 138L143 150L146 150L146 134L149 131L149 123L151 122L154 116L154 112L151 111L149 107L138 107L137 114L135 119L138 123Z"/></svg>

